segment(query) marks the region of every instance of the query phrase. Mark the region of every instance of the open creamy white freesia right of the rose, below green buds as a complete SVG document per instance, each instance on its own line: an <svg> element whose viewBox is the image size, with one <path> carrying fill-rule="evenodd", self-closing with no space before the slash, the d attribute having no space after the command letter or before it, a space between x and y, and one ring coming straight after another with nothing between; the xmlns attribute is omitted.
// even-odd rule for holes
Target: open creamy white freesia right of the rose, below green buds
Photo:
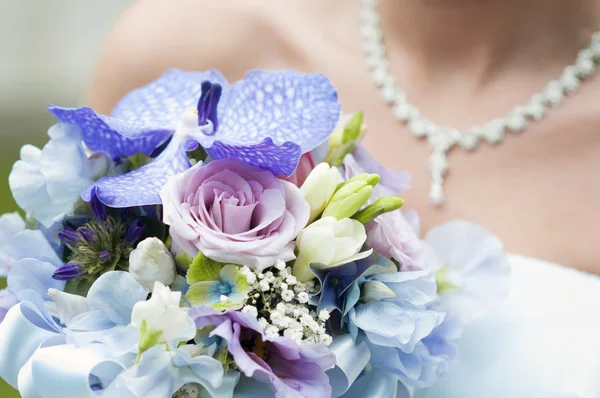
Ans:
<svg viewBox="0 0 600 398"><path fill-rule="evenodd" d="M294 275L304 282L314 278L310 264L335 266L369 256L373 250L360 252L367 234L360 222L324 217L306 227L296 239L298 258Z"/></svg>

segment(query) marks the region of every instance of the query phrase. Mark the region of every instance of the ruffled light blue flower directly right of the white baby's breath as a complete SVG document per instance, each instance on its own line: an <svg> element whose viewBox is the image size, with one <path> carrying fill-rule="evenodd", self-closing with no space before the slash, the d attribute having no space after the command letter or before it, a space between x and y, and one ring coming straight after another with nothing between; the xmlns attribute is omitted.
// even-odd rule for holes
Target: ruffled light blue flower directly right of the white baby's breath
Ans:
<svg viewBox="0 0 600 398"><path fill-rule="evenodd" d="M371 364L380 356L393 358L390 371L408 385L430 382L435 364L422 361L421 348L445 315L431 308L437 296L430 271L398 272L378 254L334 269L314 269L322 286L319 305L340 311L356 343L367 344Z"/></svg>

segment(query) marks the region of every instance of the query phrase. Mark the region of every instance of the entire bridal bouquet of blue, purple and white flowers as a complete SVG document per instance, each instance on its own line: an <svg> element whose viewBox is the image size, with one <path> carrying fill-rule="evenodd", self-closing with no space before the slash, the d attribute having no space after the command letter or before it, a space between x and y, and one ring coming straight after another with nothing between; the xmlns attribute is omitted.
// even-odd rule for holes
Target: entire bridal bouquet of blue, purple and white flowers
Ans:
<svg viewBox="0 0 600 398"><path fill-rule="evenodd" d="M172 70L111 116L49 110L9 178L26 218L0 217L24 398L409 396L506 293L484 229L419 238L322 75Z"/></svg>

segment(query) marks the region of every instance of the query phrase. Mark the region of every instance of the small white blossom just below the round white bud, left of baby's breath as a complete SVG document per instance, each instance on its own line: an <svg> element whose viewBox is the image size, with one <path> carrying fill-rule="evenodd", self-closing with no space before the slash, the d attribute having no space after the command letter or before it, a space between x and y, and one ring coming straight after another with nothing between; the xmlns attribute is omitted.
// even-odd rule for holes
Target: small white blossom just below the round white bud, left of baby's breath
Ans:
<svg viewBox="0 0 600 398"><path fill-rule="evenodd" d="M188 316L187 308L179 306L180 300L181 292L172 292L162 283L155 282L152 297L148 301L138 301L133 307L131 324L148 333L160 332L157 344L191 340L196 335L196 325Z"/></svg>

